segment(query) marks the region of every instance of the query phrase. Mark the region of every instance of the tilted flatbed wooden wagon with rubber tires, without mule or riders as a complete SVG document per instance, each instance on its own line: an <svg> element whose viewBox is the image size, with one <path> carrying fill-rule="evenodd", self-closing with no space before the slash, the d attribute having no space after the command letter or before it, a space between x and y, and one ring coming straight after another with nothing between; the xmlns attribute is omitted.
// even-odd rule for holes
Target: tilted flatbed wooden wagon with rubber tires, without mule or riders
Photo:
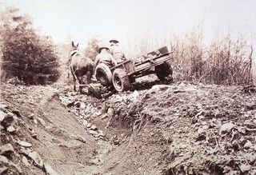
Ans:
<svg viewBox="0 0 256 175"><path fill-rule="evenodd" d="M96 78L102 86L113 86L118 92L130 89L136 78L156 74L160 80L171 76L170 52L162 47L136 60L127 60L109 68L104 64L96 66Z"/></svg>

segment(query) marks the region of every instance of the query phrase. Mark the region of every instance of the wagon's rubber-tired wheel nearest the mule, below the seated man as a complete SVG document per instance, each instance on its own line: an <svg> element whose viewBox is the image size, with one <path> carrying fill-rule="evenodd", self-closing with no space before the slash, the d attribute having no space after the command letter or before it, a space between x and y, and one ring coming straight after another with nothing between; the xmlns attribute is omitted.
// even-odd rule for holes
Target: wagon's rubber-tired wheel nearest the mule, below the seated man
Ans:
<svg viewBox="0 0 256 175"><path fill-rule="evenodd" d="M96 66L96 79L102 86L110 86L112 82L112 73L108 66L103 63Z"/></svg>

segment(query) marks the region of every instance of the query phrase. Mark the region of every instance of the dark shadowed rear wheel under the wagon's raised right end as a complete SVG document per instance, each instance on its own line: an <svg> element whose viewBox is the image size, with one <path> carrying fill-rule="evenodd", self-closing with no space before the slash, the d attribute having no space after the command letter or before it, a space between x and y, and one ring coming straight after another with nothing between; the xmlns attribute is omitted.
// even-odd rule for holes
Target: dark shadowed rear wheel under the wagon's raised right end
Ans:
<svg viewBox="0 0 256 175"><path fill-rule="evenodd" d="M170 62L164 62L162 65L155 66L155 74L158 76L159 80L164 80L169 75L173 75L173 70L171 68Z"/></svg>

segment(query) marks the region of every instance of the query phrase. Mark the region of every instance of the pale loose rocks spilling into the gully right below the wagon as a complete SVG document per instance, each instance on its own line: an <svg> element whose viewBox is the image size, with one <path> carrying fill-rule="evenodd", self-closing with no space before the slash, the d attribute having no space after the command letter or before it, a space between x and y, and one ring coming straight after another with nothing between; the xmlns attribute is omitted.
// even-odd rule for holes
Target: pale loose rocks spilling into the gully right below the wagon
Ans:
<svg viewBox="0 0 256 175"><path fill-rule="evenodd" d="M130 107L130 103L138 101L138 91L134 93L123 93L112 95L107 101L98 100L94 97L88 97L74 92L60 93L59 99L67 110L77 116L79 123L85 126L87 133L92 135L96 141L108 141L106 134L102 129L98 129L93 121L96 117L108 120L105 129L110 125L110 120L118 116L122 107ZM101 105L98 105L101 104ZM130 105L129 105L130 104Z"/></svg>

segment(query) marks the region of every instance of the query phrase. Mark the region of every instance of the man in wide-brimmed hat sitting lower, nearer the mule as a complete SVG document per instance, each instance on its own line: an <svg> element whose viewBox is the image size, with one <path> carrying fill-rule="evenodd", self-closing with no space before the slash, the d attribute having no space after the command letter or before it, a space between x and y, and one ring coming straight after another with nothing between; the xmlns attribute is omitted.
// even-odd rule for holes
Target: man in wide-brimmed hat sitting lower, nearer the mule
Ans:
<svg viewBox="0 0 256 175"><path fill-rule="evenodd" d="M95 58L95 64L96 66L99 63L104 63L106 66L116 66L117 61L113 58L112 54L108 52L109 48L106 46L102 46L98 49L98 55Z"/></svg>

